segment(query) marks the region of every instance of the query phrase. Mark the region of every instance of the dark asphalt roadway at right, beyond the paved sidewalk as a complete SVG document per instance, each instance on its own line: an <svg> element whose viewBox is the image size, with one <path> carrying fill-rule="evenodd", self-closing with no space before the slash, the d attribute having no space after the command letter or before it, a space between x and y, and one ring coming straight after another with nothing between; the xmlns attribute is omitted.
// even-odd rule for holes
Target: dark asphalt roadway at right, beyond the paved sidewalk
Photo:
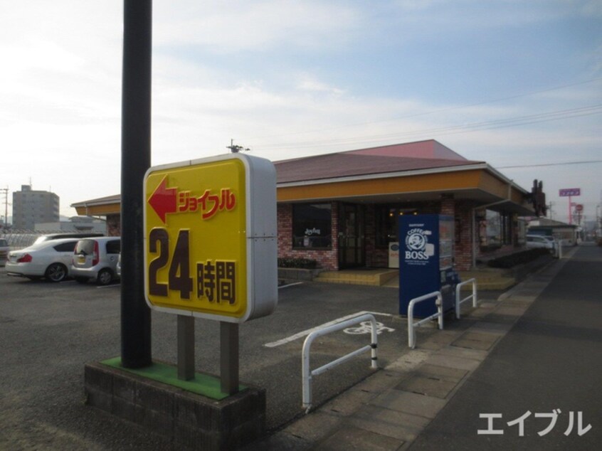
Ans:
<svg viewBox="0 0 602 451"><path fill-rule="evenodd" d="M601 382L602 248L582 245L409 449L599 449Z"/></svg>

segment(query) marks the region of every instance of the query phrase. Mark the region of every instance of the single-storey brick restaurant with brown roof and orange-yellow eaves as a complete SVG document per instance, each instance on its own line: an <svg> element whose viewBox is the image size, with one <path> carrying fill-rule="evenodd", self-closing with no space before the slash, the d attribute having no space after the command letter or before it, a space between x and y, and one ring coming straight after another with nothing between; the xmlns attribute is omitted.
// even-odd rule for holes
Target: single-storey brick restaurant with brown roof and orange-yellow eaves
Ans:
<svg viewBox="0 0 602 451"><path fill-rule="evenodd" d="M398 218L440 213L455 220L455 266L524 245L532 194L485 161L435 140L275 161L278 257L317 260L326 270L396 267ZM120 196L74 203L106 216L120 233Z"/></svg>

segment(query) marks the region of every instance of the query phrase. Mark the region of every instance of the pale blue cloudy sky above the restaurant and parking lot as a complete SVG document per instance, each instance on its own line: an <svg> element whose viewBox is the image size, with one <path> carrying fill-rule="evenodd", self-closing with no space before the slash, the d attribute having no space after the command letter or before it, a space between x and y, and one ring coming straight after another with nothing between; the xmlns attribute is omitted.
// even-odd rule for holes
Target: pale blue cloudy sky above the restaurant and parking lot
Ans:
<svg viewBox="0 0 602 451"><path fill-rule="evenodd" d="M31 181L73 216L120 192L122 1L1 2L0 188ZM231 139L272 160L437 139L525 189L543 180L555 219L563 188L596 216L600 0L153 7L153 164Z"/></svg>

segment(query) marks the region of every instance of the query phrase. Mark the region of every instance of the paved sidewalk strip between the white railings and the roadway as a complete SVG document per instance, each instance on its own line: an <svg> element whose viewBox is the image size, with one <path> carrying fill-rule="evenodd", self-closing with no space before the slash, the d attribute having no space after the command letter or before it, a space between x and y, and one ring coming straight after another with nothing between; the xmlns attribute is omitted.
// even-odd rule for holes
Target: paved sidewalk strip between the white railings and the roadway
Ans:
<svg viewBox="0 0 602 451"><path fill-rule="evenodd" d="M481 302L443 331L418 329L416 349L249 449L406 450L565 262Z"/></svg>

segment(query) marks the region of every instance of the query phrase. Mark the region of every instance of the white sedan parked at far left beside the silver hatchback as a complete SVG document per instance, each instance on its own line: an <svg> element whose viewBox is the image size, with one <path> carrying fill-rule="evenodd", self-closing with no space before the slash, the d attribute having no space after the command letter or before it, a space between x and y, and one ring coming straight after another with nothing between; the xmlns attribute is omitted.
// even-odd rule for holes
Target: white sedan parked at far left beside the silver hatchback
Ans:
<svg viewBox="0 0 602 451"><path fill-rule="evenodd" d="M6 262L6 274L31 280L42 277L51 282L65 280L70 275L71 257L77 243L75 238L63 238L12 250Z"/></svg>

